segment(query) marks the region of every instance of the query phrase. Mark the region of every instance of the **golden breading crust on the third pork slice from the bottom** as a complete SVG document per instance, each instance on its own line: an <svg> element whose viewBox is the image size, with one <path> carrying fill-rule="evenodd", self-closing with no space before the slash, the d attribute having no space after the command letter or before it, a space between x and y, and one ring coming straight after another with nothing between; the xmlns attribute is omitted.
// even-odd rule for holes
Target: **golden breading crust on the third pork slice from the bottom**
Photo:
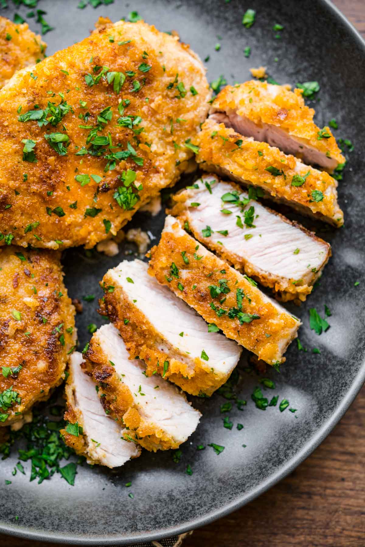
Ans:
<svg viewBox="0 0 365 547"><path fill-rule="evenodd" d="M131 358L138 356L146 363L147 376L156 373L164 375L164 378L168 378L192 395L212 395L228 380L230 373L212 372L211 367L198 357L190 359L190 365L184 363L181 358L184 357L187 361L189 357L186 354L183 355L177 348L170 347L169 353L160 351L161 342L166 346L167 341L138 310L124 290L121 287L115 287L115 282L108 273L103 277L100 285L105 290L105 295L99 301L100 313L107 315L117 327ZM113 285L113 292L109 292L108 287ZM128 320L127 324L124 319ZM163 363L166 360L169 362L169 368L164 372Z"/></svg>

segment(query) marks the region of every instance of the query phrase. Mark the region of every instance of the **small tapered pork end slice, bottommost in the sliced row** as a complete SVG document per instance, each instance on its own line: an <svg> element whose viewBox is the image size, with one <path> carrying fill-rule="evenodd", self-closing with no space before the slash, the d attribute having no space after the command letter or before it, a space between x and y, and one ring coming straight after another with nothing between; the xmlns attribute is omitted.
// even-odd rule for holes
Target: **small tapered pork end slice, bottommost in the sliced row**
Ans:
<svg viewBox="0 0 365 547"><path fill-rule="evenodd" d="M124 427L105 414L95 383L84 374L82 363L82 354L73 353L66 384L65 420L68 425L61 433L65 443L85 456L88 463L119 467L139 456L141 449L135 443L125 441Z"/></svg>

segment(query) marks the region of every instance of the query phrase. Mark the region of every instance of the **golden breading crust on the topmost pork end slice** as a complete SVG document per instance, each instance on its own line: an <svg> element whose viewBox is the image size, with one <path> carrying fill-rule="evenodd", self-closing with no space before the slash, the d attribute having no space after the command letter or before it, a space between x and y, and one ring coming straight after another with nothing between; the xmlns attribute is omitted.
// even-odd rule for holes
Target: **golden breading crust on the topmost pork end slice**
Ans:
<svg viewBox="0 0 365 547"><path fill-rule="evenodd" d="M323 154L329 154L338 164L344 163L346 159L328 126L324 129L331 137L318 140L320 128L313 121L315 110L306 106L302 90L289 91L275 85L276 95L273 97L270 85L257 80L227 85L215 97L211 112L233 111L256 125L275 125Z"/></svg>

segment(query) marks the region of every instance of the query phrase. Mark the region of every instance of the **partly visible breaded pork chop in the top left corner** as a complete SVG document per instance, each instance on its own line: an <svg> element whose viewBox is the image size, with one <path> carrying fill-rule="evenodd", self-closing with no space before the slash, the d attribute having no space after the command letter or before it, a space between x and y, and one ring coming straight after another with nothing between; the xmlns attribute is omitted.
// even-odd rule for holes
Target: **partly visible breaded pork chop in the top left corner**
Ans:
<svg viewBox="0 0 365 547"><path fill-rule="evenodd" d="M16 25L0 17L0 89L15 71L44 59L45 48L47 44L27 23Z"/></svg>

